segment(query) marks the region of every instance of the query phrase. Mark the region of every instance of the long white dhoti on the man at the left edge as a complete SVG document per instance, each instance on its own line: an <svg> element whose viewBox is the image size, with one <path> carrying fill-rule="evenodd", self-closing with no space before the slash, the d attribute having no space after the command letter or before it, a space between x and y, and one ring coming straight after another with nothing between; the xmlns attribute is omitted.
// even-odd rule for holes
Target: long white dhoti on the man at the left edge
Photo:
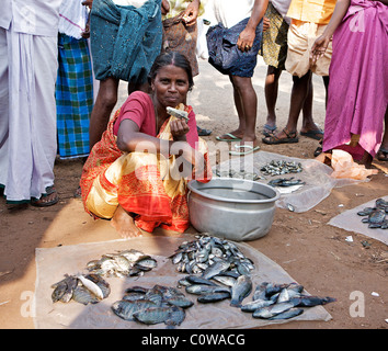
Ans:
<svg viewBox="0 0 388 351"><path fill-rule="evenodd" d="M57 37L0 27L0 184L8 202L54 184Z"/></svg>

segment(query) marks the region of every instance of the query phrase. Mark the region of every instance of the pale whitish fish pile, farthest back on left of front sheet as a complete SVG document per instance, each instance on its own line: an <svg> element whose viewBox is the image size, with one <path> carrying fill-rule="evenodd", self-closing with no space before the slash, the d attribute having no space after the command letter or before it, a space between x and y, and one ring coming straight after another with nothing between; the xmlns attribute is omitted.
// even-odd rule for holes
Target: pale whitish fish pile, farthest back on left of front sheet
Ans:
<svg viewBox="0 0 388 351"><path fill-rule="evenodd" d="M129 249L106 253L87 263L87 269L104 276L140 276L157 267L157 260L141 251Z"/></svg>

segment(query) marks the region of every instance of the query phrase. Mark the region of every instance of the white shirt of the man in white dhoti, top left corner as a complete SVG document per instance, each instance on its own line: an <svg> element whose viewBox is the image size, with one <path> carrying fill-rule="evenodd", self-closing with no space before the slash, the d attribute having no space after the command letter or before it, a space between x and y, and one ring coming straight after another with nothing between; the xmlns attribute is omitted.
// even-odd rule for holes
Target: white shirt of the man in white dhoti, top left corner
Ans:
<svg viewBox="0 0 388 351"><path fill-rule="evenodd" d="M66 0L64 0L66 1ZM1 0L0 27L15 32L57 36L62 0Z"/></svg>

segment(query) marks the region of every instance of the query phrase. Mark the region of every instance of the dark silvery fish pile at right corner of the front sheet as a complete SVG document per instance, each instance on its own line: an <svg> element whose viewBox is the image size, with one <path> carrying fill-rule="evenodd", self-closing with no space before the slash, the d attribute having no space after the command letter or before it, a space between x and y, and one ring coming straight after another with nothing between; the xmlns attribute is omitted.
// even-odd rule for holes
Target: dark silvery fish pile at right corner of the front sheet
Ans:
<svg viewBox="0 0 388 351"><path fill-rule="evenodd" d="M304 313L303 308L326 305L335 302L332 297L319 297L303 294L304 286L263 282L253 293L252 302L241 305L241 310L251 313L253 318L289 319Z"/></svg>

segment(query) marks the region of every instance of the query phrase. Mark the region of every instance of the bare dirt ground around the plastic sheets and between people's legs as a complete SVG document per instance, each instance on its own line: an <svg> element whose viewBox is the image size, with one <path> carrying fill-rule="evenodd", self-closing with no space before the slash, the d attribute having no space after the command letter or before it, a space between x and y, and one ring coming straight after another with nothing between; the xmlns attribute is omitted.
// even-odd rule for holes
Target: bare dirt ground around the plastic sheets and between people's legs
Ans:
<svg viewBox="0 0 388 351"><path fill-rule="evenodd" d="M199 68L201 73L195 79L189 102L196 111L199 126L213 131L205 139L216 143L217 135L231 132L237 126L231 86L227 77L216 72L206 61L201 61ZM260 138L266 114L263 95L265 72L266 67L260 61L253 77L259 98ZM321 78L313 78L313 114L316 122L323 127L324 89ZM290 89L292 78L284 72L277 102L278 127L283 127L287 118ZM119 90L118 104L125 100L126 86L121 84ZM269 146L261 143L262 150L303 159L312 158L317 146L317 140L306 137L290 145ZM259 240L248 242L278 263L310 294L338 299L326 306L333 317L330 321L292 321L269 326L267 329L387 329L387 246L328 225L330 218L338 214L388 194L388 165L375 161L374 167L379 172L370 177L369 182L333 189L330 196L308 212L298 214L276 208L271 231ZM0 200L0 328L34 328L31 301L36 279L35 248L118 238L109 222L94 222L83 211L81 200L73 199L81 169L79 160L57 160L55 174L60 202L55 206L28 206L23 211L10 212L5 201ZM193 228L189 231L195 233ZM174 234L157 229L153 235ZM350 235L353 242L345 240ZM362 244L364 240L367 240L367 247ZM372 293L378 293L378 296ZM355 309L357 302L362 305ZM358 312L358 316L354 316L354 310Z"/></svg>

